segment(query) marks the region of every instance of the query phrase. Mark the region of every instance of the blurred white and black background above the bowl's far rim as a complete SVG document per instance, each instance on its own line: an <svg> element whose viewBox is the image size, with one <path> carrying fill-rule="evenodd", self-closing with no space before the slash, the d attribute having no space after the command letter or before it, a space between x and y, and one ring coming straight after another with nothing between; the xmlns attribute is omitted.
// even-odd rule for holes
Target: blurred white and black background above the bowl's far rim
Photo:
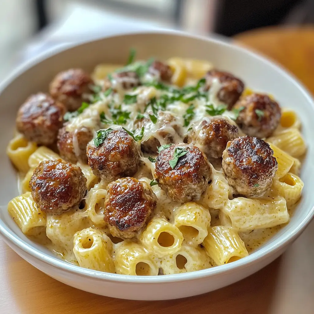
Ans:
<svg viewBox="0 0 314 314"><path fill-rule="evenodd" d="M234 36L311 23L314 0L1 0L0 80L17 63L52 46L126 29Z"/></svg>

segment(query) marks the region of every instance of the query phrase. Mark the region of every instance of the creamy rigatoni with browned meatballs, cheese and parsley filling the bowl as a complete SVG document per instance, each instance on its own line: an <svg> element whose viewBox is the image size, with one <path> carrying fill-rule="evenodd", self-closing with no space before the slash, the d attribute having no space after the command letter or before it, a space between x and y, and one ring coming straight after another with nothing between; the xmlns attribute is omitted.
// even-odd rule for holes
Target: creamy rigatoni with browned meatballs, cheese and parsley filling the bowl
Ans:
<svg viewBox="0 0 314 314"><path fill-rule="evenodd" d="M9 214L80 267L167 275L254 252L300 199L300 120L200 60L54 73L20 104Z"/></svg>

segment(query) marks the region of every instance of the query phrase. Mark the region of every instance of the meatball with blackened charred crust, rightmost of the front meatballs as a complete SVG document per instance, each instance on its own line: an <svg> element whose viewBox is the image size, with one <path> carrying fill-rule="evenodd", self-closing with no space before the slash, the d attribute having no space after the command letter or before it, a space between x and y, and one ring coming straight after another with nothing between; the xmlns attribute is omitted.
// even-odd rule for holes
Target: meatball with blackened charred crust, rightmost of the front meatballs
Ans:
<svg viewBox="0 0 314 314"><path fill-rule="evenodd" d="M263 196L272 185L278 168L269 144L250 136L228 142L222 158L228 183L246 197Z"/></svg>

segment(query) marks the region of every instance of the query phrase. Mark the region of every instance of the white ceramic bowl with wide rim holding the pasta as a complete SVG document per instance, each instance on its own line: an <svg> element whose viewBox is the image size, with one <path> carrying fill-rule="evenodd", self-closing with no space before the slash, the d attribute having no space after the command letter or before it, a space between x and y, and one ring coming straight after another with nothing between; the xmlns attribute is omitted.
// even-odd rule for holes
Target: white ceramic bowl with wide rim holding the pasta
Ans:
<svg viewBox="0 0 314 314"><path fill-rule="evenodd" d="M75 288L115 298L183 298L219 289L251 275L282 254L313 217L314 164L310 163L309 156L313 155L314 149L311 140L314 134L314 102L306 89L284 70L263 57L224 41L177 31L150 31L108 37L63 51L48 52L21 66L0 86L2 204L6 205L18 195L16 174L5 155L5 147L13 136L15 116L20 104L30 94L46 91L57 72L72 67L92 71L98 63L123 63L130 47L135 47L138 58L143 59L151 56L161 59L179 56L209 60L217 68L239 76L252 89L274 95L281 106L297 111L308 143L308 157L301 173L305 184L302 199L290 223L256 252L236 262L192 273L152 277L102 273L64 262L25 237L8 215L6 206L0 210L0 233L4 241L27 262L49 276Z"/></svg>

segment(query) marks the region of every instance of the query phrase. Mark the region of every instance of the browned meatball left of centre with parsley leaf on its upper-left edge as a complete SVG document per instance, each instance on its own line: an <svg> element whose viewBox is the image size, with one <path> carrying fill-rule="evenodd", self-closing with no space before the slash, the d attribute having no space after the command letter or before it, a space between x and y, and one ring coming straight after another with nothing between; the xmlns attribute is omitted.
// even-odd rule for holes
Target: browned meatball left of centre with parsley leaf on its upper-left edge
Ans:
<svg viewBox="0 0 314 314"><path fill-rule="evenodd" d="M138 170L138 145L122 128L109 131L98 147L94 140L90 141L87 156L93 173L101 179L112 181L132 176Z"/></svg>

